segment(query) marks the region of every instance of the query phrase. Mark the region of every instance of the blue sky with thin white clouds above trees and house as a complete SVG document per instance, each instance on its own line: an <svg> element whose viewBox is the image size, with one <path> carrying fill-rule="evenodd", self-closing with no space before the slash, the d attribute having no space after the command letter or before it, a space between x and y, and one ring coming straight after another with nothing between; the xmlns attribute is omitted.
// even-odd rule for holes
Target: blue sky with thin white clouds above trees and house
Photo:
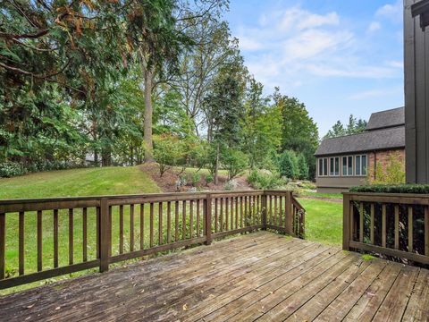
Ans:
<svg viewBox="0 0 429 322"><path fill-rule="evenodd" d="M265 94L298 97L321 137L404 105L402 0L231 0L225 18Z"/></svg>

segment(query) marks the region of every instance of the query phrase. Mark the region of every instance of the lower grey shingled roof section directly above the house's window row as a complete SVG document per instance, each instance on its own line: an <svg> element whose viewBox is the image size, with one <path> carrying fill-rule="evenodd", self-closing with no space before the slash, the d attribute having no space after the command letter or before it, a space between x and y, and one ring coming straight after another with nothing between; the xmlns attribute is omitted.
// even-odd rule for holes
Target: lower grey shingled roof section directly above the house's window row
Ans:
<svg viewBox="0 0 429 322"><path fill-rule="evenodd" d="M405 126L325 139L315 151L315 157L405 148Z"/></svg>

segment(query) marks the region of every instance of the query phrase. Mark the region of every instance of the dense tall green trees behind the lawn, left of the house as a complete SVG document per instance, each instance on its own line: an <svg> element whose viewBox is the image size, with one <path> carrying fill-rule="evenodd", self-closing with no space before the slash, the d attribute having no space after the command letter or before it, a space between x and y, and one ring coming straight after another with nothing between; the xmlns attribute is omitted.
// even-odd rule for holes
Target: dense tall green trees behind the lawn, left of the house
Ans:
<svg viewBox="0 0 429 322"><path fill-rule="evenodd" d="M5 1L0 176L156 161L311 179L315 122L249 74L225 0ZM283 160L283 164L285 161ZM297 168L299 168L297 170ZM299 174L298 174L299 173Z"/></svg>

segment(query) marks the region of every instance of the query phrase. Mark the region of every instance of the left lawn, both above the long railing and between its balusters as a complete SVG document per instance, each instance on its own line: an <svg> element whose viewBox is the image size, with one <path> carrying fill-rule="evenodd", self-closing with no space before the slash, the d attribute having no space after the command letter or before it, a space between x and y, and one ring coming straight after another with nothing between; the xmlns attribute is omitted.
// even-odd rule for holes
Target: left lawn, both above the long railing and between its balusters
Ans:
<svg viewBox="0 0 429 322"><path fill-rule="evenodd" d="M0 179L0 199L29 199L71 196L99 196L115 194L139 194L159 192L156 183L138 167L104 167L64 171L54 171L38 174L28 174L21 177ZM148 206L145 207L148 214ZM157 210L157 209L156 209ZM96 209L87 209L88 231L88 260L97 258L97 229ZM6 214L6 275L16 276L18 272L18 231L19 215ZM157 218L156 225L157 225ZM113 253L119 249L119 208L113 208ZM145 216L145 243L148 243L149 218ZM83 216L82 209L74 209L72 216L73 261L80 263L83 259ZM134 215L134 242L139 245L139 207ZM59 266L69 264L69 210L60 209L58 212L58 253ZM130 206L123 208L124 249L130 248ZM44 211L42 215L42 263L43 269L54 267L54 216L53 211ZM24 268L25 274L37 271L37 213L26 212L24 215ZM73 274L80 275L81 273ZM65 276L66 277L66 276ZM52 280L58 280L57 277ZM52 281L51 280L51 281ZM47 281L50 282L50 281ZM38 285L46 282L38 282ZM20 290L30 285L15 289ZM8 291L6 291L8 292ZM10 292L10 291L9 291Z"/></svg>

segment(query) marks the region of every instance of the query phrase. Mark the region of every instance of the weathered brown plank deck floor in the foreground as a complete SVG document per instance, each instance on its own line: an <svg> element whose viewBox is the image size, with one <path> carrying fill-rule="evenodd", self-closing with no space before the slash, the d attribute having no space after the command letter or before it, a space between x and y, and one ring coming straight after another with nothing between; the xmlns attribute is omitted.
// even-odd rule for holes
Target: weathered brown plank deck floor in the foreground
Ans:
<svg viewBox="0 0 429 322"><path fill-rule="evenodd" d="M427 320L429 271L250 233L0 298L4 321Z"/></svg>

